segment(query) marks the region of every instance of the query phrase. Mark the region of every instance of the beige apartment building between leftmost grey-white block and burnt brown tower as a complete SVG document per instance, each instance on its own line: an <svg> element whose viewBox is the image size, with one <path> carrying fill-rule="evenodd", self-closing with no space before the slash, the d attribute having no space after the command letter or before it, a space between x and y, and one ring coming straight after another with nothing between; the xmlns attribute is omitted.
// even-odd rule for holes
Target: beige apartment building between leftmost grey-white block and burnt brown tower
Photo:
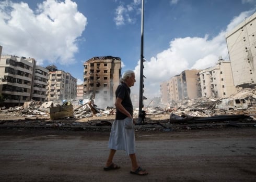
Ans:
<svg viewBox="0 0 256 182"><path fill-rule="evenodd" d="M48 77L48 101L74 100L77 95L77 79L70 73L57 70L54 65L46 67Z"/></svg>

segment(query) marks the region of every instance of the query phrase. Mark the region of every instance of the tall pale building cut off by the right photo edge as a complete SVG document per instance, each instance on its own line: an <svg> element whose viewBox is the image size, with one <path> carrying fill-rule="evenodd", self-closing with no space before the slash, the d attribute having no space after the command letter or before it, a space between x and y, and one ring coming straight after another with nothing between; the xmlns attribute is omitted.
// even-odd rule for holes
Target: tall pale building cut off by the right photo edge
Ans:
<svg viewBox="0 0 256 182"><path fill-rule="evenodd" d="M234 85L256 85L256 12L226 34Z"/></svg>

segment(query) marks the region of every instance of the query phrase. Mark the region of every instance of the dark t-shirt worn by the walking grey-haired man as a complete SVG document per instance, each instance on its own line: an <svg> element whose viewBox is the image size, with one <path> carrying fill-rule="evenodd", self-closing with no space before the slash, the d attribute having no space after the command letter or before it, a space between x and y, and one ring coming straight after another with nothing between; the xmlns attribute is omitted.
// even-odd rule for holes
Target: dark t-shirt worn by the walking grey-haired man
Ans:
<svg viewBox="0 0 256 182"><path fill-rule="evenodd" d="M121 98L123 107L133 116L133 105L130 94L131 89L125 83L118 85L117 90L115 90L115 98ZM125 118L127 118L127 115L123 114L117 109L117 113L115 113L115 119L123 120Z"/></svg>

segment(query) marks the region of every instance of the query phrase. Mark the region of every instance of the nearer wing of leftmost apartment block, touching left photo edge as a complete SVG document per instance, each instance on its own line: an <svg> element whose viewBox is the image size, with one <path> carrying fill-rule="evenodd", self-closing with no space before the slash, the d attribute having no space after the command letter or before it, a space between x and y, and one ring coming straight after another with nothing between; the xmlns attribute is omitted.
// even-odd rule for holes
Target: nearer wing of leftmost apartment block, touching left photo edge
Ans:
<svg viewBox="0 0 256 182"><path fill-rule="evenodd" d="M32 98L33 71L36 61L32 58L1 56L0 92L5 107L22 106Z"/></svg>

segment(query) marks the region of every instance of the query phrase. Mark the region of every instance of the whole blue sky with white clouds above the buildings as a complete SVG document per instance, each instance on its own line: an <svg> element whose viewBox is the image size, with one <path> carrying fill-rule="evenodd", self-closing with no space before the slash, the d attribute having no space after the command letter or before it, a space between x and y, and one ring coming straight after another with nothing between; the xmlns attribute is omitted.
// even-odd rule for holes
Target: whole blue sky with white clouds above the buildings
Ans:
<svg viewBox="0 0 256 182"><path fill-rule="evenodd" d="M186 69L229 60L225 34L255 13L255 0L145 0L144 75L146 97ZM138 93L141 0L0 0L3 55L55 64L83 81L83 63L95 56L122 60L134 70Z"/></svg>

